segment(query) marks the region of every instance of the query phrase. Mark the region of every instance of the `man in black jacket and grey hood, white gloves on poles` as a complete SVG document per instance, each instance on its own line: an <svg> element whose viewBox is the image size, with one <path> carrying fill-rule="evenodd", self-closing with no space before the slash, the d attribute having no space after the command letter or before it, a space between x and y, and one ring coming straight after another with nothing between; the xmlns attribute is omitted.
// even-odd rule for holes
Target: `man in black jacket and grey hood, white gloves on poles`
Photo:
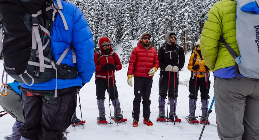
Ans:
<svg viewBox="0 0 259 140"><path fill-rule="evenodd" d="M169 111L169 119L171 121L176 121L174 119L178 119L178 116L175 113L177 97L178 97L178 84L179 84L179 74L184 66L184 51L182 47L179 47L178 44L175 43L176 34L173 31L169 31L166 34L167 44L164 47L160 47L158 59L159 59L159 67L160 67L160 78L159 78L159 115L158 121L165 121L165 99L167 99L167 92L169 92L168 98L170 101L170 111ZM170 77L169 77L170 72ZM174 73L175 72L175 73ZM169 91L168 90L168 81L170 78ZM174 80L175 79L175 80ZM175 87L174 87L175 81ZM180 119L178 119L180 121Z"/></svg>

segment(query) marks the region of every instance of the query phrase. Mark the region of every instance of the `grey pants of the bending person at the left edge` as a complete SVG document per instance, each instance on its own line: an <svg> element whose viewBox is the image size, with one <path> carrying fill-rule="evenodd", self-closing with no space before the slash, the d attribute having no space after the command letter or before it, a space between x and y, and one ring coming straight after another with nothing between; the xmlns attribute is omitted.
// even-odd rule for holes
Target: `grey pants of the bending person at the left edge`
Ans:
<svg viewBox="0 0 259 140"><path fill-rule="evenodd" d="M9 89L9 87L10 86L8 86L8 95L0 96L0 105L13 118L16 118L17 121L23 123L24 117L22 98L16 91ZM4 90L2 92L4 92Z"/></svg>

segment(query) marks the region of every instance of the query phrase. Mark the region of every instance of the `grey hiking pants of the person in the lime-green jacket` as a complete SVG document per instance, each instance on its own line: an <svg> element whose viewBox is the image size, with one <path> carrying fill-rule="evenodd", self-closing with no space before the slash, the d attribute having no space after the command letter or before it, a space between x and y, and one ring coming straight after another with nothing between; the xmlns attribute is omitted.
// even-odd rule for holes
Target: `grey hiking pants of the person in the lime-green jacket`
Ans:
<svg viewBox="0 0 259 140"><path fill-rule="evenodd" d="M221 140L259 140L259 79L215 77L215 112Z"/></svg>

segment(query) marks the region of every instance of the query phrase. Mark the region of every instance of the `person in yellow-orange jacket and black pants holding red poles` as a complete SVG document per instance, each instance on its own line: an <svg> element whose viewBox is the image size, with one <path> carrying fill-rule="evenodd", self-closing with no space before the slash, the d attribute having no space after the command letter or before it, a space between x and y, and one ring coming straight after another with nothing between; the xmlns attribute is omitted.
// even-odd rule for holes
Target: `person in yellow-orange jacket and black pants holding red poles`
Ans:
<svg viewBox="0 0 259 140"><path fill-rule="evenodd" d="M194 53L191 55L189 63L188 63L188 70L192 71L192 76L189 81L189 120L192 122L193 120L197 120L195 117L195 110L196 110L196 102L198 99L198 91L200 89L201 92L201 120L205 121L207 117L207 109L210 99L209 92L210 92L210 80L208 77L209 74L206 74L207 71L210 69L205 65L204 60L201 55L200 49L200 40L197 41L196 47L194 49ZM209 73L209 72L208 72ZM196 81L197 76L197 81ZM208 83L206 83L208 80ZM196 85L197 82L197 85ZM206 84L208 84L208 89ZM196 87L195 87L196 85ZM195 89L196 88L196 89ZM195 93L196 91L196 93Z"/></svg>

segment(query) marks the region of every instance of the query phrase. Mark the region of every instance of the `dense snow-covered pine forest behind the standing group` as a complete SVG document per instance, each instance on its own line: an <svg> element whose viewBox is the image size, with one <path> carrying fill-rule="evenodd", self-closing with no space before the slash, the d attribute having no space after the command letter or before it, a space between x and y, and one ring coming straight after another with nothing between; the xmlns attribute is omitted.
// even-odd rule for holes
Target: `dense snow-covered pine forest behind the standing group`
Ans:
<svg viewBox="0 0 259 140"><path fill-rule="evenodd" d="M152 46L159 49L168 31L177 35L176 43L187 53L201 36L206 15L219 0L67 0L83 12L95 41L108 37L113 50L120 44L121 62L128 64L132 40L147 32Z"/></svg>

